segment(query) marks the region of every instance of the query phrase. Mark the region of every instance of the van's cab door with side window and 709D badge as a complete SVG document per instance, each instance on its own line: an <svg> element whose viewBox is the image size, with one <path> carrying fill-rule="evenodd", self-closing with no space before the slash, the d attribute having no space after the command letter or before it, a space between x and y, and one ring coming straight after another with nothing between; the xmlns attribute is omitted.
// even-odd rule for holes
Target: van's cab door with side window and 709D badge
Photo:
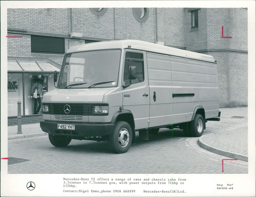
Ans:
<svg viewBox="0 0 256 197"><path fill-rule="evenodd" d="M136 78L131 80L130 67L136 67ZM149 87L146 53L144 51L125 51L122 82L123 106L125 110L129 110L133 114L135 130L148 128Z"/></svg>

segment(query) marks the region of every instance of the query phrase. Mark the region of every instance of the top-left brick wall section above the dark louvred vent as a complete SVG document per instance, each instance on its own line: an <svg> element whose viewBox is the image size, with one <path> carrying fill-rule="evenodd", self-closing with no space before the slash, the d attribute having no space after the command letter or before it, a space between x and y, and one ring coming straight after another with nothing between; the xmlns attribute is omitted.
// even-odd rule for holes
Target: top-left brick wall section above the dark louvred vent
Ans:
<svg viewBox="0 0 256 197"><path fill-rule="evenodd" d="M8 9L7 28L26 29L29 34L68 36L68 9Z"/></svg>

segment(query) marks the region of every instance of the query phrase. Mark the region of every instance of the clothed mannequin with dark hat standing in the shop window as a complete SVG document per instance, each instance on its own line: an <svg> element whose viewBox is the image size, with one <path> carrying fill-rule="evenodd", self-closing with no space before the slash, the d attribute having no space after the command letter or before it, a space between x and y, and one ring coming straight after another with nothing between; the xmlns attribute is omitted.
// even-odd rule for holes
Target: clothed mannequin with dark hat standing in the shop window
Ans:
<svg viewBox="0 0 256 197"><path fill-rule="evenodd" d="M43 86L41 83L39 83L38 79L35 79L35 83L32 85L31 94L34 98L34 114L38 114L42 106L41 97L43 95Z"/></svg>

